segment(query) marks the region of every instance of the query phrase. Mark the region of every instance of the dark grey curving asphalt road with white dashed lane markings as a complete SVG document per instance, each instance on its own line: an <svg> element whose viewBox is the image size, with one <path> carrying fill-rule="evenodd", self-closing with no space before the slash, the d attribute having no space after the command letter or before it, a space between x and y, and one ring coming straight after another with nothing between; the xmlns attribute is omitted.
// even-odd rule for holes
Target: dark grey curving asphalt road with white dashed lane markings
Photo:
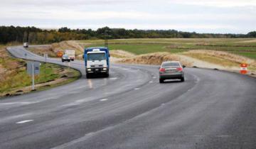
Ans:
<svg viewBox="0 0 256 149"><path fill-rule="evenodd" d="M44 61L22 47L9 52ZM85 74L84 62L70 67ZM156 66L111 65L110 78L3 99L0 148L255 149L256 79L185 70L185 82L159 84Z"/></svg>

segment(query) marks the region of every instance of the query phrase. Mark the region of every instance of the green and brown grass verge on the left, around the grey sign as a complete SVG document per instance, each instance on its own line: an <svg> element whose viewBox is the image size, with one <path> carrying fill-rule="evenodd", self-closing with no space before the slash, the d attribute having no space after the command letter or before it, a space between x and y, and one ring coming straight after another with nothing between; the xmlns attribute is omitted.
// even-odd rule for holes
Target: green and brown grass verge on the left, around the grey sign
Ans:
<svg viewBox="0 0 256 149"><path fill-rule="evenodd" d="M41 63L41 73L35 76L36 90L68 84L80 78L80 72L60 65ZM0 97L31 92L31 76L26 72L26 61L13 58L0 45Z"/></svg>

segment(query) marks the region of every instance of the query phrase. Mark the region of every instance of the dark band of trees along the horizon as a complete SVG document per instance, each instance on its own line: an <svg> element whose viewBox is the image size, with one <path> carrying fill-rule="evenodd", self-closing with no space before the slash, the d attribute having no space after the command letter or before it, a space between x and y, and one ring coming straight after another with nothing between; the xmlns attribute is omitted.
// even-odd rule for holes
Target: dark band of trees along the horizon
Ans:
<svg viewBox="0 0 256 149"><path fill-rule="evenodd" d="M0 43L57 43L63 40L124 38L256 38L256 31L247 34L196 33L176 30L126 30L124 28L43 30L36 27L0 26Z"/></svg>

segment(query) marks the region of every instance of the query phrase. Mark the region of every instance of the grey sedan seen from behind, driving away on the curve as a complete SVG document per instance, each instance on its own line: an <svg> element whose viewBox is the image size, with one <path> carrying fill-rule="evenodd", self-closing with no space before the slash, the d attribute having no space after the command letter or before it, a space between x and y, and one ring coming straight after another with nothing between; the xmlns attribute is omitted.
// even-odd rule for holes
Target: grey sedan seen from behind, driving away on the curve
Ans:
<svg viewBox="0 0 256 149"><path fill-rule="evenodd" d="M163 62L159 69L159 82L164 83L165 79L181 79L184 82L184 67L178 61Z"/></svg>

